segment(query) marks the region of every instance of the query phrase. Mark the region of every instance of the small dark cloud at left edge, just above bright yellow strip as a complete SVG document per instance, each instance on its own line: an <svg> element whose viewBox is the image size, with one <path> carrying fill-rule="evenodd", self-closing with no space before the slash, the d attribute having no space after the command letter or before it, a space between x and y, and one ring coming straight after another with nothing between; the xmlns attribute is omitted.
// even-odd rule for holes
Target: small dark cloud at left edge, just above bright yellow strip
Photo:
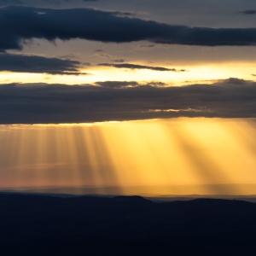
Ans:
<svg viewBox="0 0 256 256"><path fill-rule="evenodd" d="M79 75L79 61L38 55L0 54L0 71Z"/></svg>

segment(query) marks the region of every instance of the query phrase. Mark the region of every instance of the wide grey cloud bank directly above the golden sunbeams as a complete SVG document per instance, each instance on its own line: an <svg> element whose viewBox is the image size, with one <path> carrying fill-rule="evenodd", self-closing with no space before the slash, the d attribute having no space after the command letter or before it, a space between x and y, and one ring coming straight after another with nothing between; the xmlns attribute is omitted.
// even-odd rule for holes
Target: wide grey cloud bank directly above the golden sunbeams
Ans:
<svg viewBox="0 0 256 256"><path fill-rule="evenodd" d="M96 86L0 86L1 124L173 117L255 118L256 83L228 79L214 84L191 84L183 87L111 81L98 83Z"/></svg>

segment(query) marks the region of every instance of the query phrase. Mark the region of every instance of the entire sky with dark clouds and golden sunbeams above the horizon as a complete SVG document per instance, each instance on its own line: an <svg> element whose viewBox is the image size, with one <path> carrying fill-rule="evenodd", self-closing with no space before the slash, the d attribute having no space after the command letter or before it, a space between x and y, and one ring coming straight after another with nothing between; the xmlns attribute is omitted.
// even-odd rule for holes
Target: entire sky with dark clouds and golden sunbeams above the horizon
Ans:
<svg viewBox="0 0 256 256"><path fill-rule="evenodd" d="M0 0L0 188L256 194L255 20L254 0Z"/></svg>

